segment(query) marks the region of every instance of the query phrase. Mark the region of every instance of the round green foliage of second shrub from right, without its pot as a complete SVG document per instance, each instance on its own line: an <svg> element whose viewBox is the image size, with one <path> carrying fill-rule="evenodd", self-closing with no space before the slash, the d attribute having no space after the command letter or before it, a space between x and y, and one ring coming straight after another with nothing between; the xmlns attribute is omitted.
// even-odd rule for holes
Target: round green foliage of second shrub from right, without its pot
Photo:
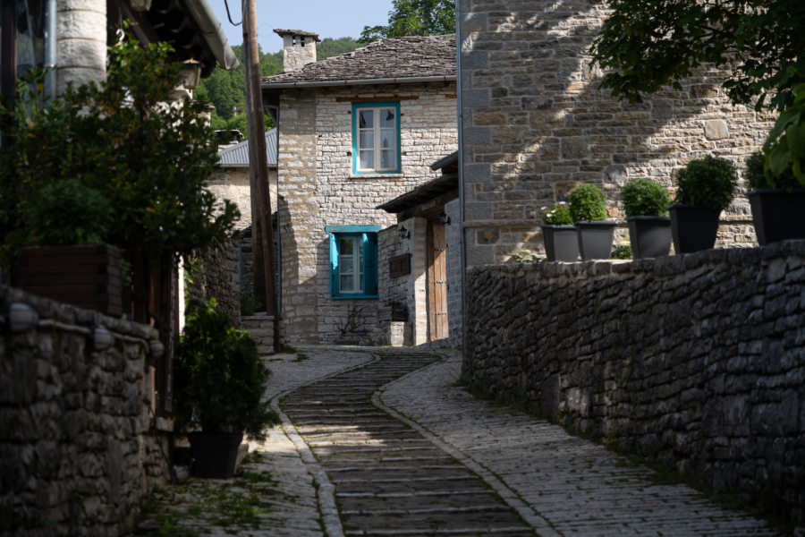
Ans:
<svg viewBox="0 0 805 537"><path fill-rule="evenodd" d="M691 160L676 175L676 203L723 210L733 200L738 175L733 163L708 155Z"/></svg>

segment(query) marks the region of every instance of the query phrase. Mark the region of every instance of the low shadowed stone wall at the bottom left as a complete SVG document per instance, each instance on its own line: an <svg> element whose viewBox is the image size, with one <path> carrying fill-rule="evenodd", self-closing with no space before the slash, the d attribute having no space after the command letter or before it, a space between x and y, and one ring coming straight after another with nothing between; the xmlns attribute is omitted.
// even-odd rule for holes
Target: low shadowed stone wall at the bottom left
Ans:
<svg viewBox="0 0 805 537"><path fill-rule="evenodd" d="M0 534L128 534L168 478L149 415L157 331L7 286L2 303L30 304L38 327L0 320ZM114 333L111 348L92 349L93 326Z"/></svg>

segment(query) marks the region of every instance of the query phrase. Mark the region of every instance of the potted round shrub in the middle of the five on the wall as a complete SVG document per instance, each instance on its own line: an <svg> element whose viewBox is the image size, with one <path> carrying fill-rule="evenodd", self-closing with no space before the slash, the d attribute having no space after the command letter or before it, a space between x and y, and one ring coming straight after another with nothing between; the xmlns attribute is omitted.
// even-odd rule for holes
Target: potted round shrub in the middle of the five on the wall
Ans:
<svg viewBox="0 0 805 537"><path fill-rule="evenodd" d="M634 259L662 257L671 251L671 218L665 209L668 192L648 179L635 179L623 187L623 211L629 226Z"/></svg>

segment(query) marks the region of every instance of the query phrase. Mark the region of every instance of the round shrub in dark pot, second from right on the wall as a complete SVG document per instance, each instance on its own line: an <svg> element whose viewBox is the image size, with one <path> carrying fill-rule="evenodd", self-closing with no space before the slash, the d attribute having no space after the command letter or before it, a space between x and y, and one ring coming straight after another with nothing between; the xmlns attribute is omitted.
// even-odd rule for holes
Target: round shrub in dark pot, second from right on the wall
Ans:
<svg viewBox="0 0 805 537"><path fill-rule="evenodd" d="M671 214L676 253L708 250L716 244L718 217L733 200L738 175L733 163L708 155L691 160L676 175Z"/></svg>

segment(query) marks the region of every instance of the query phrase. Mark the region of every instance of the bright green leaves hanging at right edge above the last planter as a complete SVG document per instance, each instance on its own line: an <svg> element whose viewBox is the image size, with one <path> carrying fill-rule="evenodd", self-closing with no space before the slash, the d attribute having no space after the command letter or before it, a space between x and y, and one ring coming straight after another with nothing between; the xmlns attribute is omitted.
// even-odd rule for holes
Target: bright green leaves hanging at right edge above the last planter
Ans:
<svg viewBox="0 0 805 537"><path fill-rule="evenodd" d="M789 172L801 186L805 186L805 83L797 85L793 95L792 107L777 118L763 145L767 154L766 180L772 188L777 181L785 182Z"/></svg>

